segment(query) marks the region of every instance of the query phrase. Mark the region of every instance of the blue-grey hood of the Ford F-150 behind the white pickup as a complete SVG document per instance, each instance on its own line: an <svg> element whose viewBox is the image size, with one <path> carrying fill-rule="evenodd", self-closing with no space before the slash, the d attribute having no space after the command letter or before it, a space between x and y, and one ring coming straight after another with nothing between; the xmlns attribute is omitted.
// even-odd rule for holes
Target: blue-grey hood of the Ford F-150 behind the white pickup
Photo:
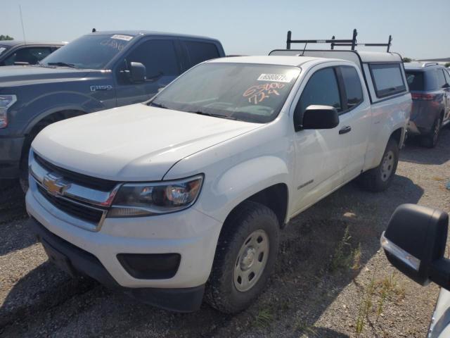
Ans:
<svg viewBox="0 0 450 338"><path fill-rule="evenodd" d="M0 87L15 87L22 84L61 81L74 77L84 77L86 69L68 67L39 67L37 65L6 65L0 67Z"/></svg>

